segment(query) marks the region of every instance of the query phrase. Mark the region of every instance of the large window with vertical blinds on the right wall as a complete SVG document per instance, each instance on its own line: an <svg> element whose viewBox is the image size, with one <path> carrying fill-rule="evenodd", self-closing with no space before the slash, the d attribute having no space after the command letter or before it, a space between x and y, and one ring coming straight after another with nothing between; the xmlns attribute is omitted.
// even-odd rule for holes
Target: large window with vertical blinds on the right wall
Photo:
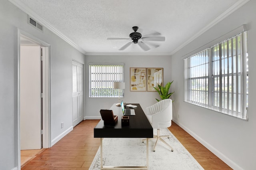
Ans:
<svg viewBox="0 0 256 170"><path fill-rule="evenodd" d="M242 32L184 59L184 100L248 119L247 35Z"/></svg>

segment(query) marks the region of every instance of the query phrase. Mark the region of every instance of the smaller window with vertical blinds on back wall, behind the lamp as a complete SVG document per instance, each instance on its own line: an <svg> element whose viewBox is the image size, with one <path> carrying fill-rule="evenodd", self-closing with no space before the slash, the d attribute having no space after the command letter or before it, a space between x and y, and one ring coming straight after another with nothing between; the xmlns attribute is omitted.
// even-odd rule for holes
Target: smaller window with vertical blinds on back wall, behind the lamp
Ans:
<svg viewBox="0 0 256 170"><path fill-rule="evenodd" d="M113 89L113 82L124 81L124 64L89 64L89 97L118 97L119 89ZM124 97L124 90L120 90Z"/></svg>

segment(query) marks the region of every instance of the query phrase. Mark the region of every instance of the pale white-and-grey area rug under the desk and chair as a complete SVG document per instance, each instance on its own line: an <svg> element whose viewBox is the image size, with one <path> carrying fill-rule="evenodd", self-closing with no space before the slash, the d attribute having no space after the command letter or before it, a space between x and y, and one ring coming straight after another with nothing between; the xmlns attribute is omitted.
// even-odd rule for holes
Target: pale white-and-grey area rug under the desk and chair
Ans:
<svg viewBox="0 0 256 170"><path fill-rule="evenodd" d="M170 135L164 140L174 151L159 140L153 152L156 140L149 140L149 170L203 170L167 128L160 129L160 135ZM141 138L104 138L102 143L103 166L146 166L146 141L142 143ZM100 170L100 148L89 169Z"/></svg>

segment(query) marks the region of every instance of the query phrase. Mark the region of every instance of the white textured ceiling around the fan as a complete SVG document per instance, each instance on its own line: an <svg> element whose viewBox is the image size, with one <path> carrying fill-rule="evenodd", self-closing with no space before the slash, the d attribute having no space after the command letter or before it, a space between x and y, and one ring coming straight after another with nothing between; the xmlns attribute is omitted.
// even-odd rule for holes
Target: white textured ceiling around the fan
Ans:
<svg viewBox="0 0 256 170"><path fill-rule="evenodd" d="M170 55L248 0L10 0L40 24L62 35L86 55ZM143 51L128 40L132 26L165 42Z"/></svg>

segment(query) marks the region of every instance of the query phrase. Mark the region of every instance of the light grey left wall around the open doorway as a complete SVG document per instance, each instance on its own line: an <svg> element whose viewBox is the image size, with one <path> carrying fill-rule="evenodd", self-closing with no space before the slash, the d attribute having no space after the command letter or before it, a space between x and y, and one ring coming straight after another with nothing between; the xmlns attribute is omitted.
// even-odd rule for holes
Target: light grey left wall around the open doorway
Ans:
<svg viewBox="0 0 256 170"><path fill-rule="evenodd" d="M18 167L18 29L51 45L51 140L72 128L72 59L84 63L82 53L48 29L40 32L30 26L27 14L8 0L1 0L0 169L3 170Z"/></svg>

